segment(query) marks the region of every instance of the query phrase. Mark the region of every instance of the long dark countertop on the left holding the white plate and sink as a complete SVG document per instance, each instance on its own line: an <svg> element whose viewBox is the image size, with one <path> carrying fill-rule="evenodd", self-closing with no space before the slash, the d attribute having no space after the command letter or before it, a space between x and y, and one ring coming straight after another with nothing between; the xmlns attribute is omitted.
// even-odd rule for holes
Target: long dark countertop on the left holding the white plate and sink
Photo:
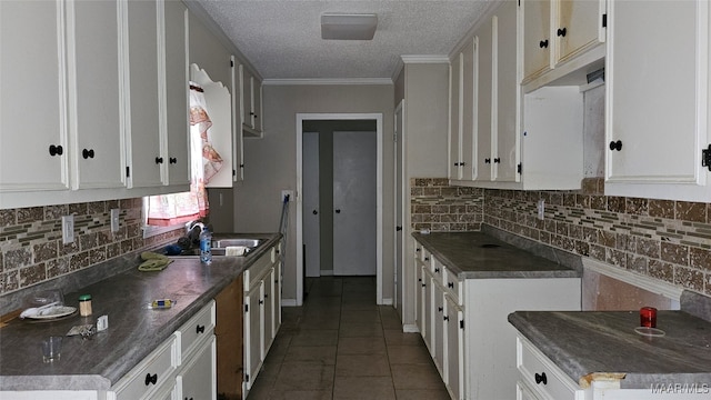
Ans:
<svg viewBox="0 0 711 400"><path fill-rule="evenodd" d="M78 296L90 293L91 317L77 313L52 322L13 320L0 329L0 390L108 390L273 247L281 234L248 237L267 241L247 257L216 257L210 266L201 264L197 257L177 258L160 272L131 268L64 294L64 302L77 307ZM148 309L151 300L163 298L177 300L177 304L167 310ZM64 336L72 327L93 323L103 314L109 317L108 330L90 340L66 337L61 359L42 362L42 338Z"/></svg>

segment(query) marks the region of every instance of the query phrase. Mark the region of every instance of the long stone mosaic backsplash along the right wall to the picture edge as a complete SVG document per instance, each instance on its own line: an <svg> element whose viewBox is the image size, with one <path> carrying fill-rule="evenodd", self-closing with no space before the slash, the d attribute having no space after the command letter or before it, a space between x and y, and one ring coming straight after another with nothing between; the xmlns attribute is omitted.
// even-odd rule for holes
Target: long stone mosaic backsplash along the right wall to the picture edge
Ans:
<svg viewBox="0 0 711 400"><path fill-rule="evenodd" d="M484 191L484 223L711 294L711 203L603 194L601 178L580 191ZM537 202L545 201L543 220Z"/></svg>

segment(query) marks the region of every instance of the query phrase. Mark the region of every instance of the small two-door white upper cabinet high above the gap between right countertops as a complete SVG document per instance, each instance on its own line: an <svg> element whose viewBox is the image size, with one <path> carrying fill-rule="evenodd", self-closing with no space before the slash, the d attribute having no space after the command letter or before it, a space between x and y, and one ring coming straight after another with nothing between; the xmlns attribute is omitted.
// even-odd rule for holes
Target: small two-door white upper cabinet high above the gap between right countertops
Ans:
<svg viewBox="0 0 711 400"><path fill-rule="evenodd" d="M525 92L561 79L585 83L602 67L605 0L520 0L519 8Z"/></svg>

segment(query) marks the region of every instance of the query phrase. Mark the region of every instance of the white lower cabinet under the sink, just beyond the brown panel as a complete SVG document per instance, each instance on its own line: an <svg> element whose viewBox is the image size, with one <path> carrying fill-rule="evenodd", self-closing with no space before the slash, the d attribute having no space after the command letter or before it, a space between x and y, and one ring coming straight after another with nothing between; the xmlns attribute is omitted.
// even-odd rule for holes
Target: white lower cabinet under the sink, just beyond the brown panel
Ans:
<svg viewBox="0 0 711 400"><path fill-rule="evenodd" d="M249 393L281 324L280 246L244 271L244 380Z"/></svg>

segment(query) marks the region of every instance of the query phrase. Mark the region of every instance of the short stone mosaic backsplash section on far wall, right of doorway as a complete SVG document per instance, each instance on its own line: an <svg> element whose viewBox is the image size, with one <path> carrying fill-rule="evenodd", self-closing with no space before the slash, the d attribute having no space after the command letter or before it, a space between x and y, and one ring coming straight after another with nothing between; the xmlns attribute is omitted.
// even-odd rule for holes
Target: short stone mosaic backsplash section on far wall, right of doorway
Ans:
<svg viewBox="0 0 711 400"><path fill-rule="evenodd" d="M411 223L415 231L478 231L483 206L483 189L450 186L447 178L410 179Z"/></svg>

